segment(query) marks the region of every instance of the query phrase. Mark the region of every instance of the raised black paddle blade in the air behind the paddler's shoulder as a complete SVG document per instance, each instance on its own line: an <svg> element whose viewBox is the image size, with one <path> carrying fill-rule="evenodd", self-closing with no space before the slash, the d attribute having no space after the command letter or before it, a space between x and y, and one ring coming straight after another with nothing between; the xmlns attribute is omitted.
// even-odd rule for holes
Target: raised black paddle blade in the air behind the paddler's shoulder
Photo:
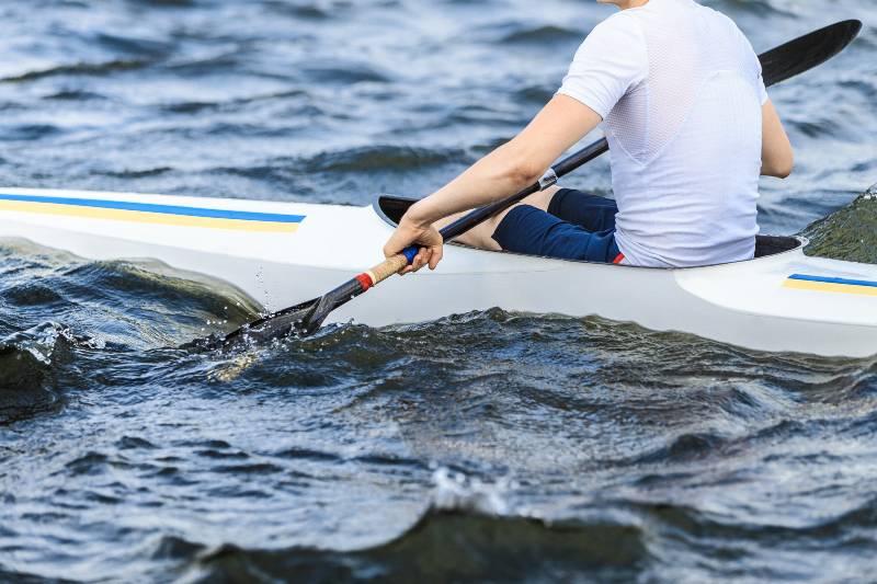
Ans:
<svg viewBox="0 0 877 584"><path fill-rule="evenodd" d="M861 31L862 21L843 21L763 53L759 60L764 84L782 83L822 65L845 49Z"/></svg>

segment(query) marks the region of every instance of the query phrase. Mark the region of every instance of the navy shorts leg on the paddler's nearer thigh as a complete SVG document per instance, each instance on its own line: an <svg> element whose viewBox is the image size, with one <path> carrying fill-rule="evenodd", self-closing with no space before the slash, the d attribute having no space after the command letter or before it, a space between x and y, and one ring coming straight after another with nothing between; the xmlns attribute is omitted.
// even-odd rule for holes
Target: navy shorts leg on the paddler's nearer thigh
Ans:
<svg viewBox="0 0 877 584"><path fill-rule="evenodd" d="M620 253L614 230L592 232L531 205L512 208L493 240L505 251L562 260L612 263Z"/></svg>

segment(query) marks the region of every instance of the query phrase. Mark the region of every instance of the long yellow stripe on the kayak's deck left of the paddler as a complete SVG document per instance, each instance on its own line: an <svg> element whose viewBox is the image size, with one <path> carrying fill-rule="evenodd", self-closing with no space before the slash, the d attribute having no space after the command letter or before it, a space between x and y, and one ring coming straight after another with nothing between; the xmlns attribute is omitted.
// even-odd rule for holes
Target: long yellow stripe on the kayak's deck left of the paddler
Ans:
<svg viewBox="0 0 877 584"><path fill-rule="evenodd" d="M39 215L60 215L65 217L84 217L88 219L106 219L113 221L133 221L138 224L171 225L178 227L197 227L207 229L230 229L235 231L259 231L273 233L295 233L300 224L280 221L249 221L242 219L221 219L215 217L193 217L167 213L149 213L125 209L106 209L80 205L61 205L55 203L30 203L0 199L0 210L15 213L35 213Z"/></svg>

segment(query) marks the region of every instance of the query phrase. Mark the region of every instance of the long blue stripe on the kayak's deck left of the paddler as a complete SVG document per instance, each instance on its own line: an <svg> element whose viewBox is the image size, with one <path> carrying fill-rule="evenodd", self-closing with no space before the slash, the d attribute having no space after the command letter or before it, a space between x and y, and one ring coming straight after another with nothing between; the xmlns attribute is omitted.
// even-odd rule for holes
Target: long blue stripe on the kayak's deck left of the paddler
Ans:
<svg viewBox="0 0 877 584"><path fill-rule="evenodd" d="M49 205L72 205L100 209L133 210L140 213L158 213L161 215L181 215L185 217L205 217L210 219L237 219L241 221L266 221L276 224L300 224L304 215L281 215L275 213L253 213L246 210L205 209L200 207L180 207L176 205L153 205L149 203L128 203L125 201L100 201L92 198L49 197L39 195L0 194L0 201L19 201L22 203L45 203Z"/></svg>

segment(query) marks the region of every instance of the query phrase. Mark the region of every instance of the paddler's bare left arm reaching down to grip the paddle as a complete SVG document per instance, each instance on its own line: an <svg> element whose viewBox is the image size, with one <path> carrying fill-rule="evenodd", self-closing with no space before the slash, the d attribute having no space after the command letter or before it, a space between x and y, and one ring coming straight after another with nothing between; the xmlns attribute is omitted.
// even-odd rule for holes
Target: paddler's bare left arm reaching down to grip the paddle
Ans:
<svg viewBox="0 0 877 584"><path fill-rule="evenodd" d="M560 154L601 122L600 115L583 103L556 95L514 139L412 205L384 252L392 255L417 243L426 251L418 255L412 267L429 264L435 268L442 257L442 238L432 224L494 203L535 183Z"/></svg>

